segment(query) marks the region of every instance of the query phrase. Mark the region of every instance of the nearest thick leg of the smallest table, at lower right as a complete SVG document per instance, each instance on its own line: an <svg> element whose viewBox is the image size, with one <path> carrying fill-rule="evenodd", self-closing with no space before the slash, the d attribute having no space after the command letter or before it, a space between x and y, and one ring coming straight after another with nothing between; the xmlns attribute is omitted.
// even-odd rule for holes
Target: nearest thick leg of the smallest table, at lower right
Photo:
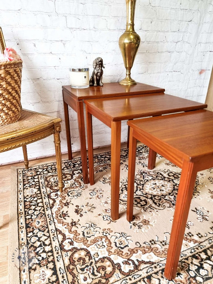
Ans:
<svg viewBox="0 0 213 284"><path fill-rule="evenodd" d="M164 271L169 280L176 276L196 175L194 163L184 161Z"/></svg>

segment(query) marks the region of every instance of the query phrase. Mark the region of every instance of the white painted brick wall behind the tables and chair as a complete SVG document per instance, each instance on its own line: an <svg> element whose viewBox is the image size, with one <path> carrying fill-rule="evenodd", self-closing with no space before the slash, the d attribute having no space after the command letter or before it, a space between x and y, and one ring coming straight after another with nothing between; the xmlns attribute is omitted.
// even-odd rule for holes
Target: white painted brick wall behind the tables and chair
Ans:
<svg viewBox="0 0 213 284"><path fill-rule="evenodd" d="M135 30L141 45L132 68L138 82L204 102L213 62L212 0L137 0ZM23 59L22 105L61 117L61 86L68 68L89 66L101 56L103 82L118 82L125 68L118 39L125 30L124 0L1 1L0 26L7 46ZM200 70L205 72L200 74ZM72 149L79 150L77 115L70 113ZM94 146L110 144L110 129L94 118ZM122 141L127 138L122 123ZM62 123L62 152L67 151ZM54 154L51 137L28 146L29 158ZM0 164L23 160L22 149L0 154Z"/></svg>

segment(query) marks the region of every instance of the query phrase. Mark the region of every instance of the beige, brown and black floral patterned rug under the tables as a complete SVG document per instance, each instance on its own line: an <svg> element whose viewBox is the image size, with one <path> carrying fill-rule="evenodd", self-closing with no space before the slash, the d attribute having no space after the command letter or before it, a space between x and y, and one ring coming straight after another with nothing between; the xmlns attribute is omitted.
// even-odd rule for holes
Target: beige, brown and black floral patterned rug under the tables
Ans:
<svg viewBox="0 0 213 284"><path fill-rule="evenodd" d="M81 160L12 169L10 284L213 283L213 169L199 172L176 278L163 276L180 169L137 148L134 219L126 220L128 150L121 150L120 219L110 218L110 152L96 154L95 184Z"/></svg>

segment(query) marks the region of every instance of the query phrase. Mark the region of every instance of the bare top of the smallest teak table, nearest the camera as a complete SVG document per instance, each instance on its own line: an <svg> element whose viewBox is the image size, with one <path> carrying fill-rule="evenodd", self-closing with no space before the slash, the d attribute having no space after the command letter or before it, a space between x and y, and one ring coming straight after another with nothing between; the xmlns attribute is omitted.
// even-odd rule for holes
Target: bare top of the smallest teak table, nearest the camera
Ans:
<svg viewBox="0 0 213 284"><path fill-rule="evenodd" d="M127 124L155 145L160 145L164 153L175 153L176 156L190 161L199 159L201 155L213 155L213 113L211 111L197 110L143 118L128 121Z"/></svg>

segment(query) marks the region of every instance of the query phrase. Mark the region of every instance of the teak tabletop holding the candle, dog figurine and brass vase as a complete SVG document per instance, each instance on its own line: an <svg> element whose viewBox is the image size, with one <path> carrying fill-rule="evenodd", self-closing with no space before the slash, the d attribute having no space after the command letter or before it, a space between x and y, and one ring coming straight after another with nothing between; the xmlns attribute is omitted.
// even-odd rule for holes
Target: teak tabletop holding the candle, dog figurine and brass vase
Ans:
<svg viewBox="0 0 213 284"><path fill-rule="evenodd" d="M119 83L104 83L103 86L90 86L85 89L74 89L71 86L62 86L63 91L72 96L75 100L93 99L101 97L112 97L121 95L136 95L143 93L164 92L165 89L142 83L137 85L124 86Z"/></svg>

